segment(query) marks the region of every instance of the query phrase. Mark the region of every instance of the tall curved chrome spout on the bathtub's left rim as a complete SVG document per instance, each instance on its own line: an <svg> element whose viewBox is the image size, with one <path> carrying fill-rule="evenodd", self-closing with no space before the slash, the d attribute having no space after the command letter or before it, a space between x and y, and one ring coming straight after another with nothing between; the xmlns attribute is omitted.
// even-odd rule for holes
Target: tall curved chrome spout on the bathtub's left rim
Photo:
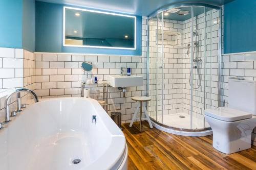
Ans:
<svg viewBox="0 0 256 170"><path fill-rule="evenodd" d="M6 99L5 99L5 123L8 123L10 122L10 111L9 111L9 101L11 99L11 96L12 94L15 94L15 93L18 93L18 92L27 92L27 93L30 93L33 95L33 98L34 98L34 101L35 102L38 102L38 98L37 98L37 95L32 91L32 90L29 90L27 88L19 88L19 89L16 89L15 91L13 91L11 94L9 94Z"/></svg>

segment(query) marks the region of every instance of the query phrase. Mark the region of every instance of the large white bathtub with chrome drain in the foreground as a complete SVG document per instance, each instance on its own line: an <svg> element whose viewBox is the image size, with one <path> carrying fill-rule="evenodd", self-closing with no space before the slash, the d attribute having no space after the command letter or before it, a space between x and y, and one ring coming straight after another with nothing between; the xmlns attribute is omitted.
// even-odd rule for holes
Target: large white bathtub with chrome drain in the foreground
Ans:
<svg viewBox="0 0 256 170"><path fill-rule="evenodd" d="M126 161L122 131L93 99L38 102L0 130L0 169L127 169Z"/></svg>

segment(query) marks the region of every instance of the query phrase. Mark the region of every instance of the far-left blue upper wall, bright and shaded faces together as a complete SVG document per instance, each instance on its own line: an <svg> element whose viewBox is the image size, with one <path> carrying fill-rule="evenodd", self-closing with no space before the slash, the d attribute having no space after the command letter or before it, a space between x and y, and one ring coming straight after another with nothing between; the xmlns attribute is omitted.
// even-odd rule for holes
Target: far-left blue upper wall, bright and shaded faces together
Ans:
<svg viewBox="0 0 256 170"><path fill-rule="evenodd" d="M0 47L35 51L35 1L0 1Z"/></svg>

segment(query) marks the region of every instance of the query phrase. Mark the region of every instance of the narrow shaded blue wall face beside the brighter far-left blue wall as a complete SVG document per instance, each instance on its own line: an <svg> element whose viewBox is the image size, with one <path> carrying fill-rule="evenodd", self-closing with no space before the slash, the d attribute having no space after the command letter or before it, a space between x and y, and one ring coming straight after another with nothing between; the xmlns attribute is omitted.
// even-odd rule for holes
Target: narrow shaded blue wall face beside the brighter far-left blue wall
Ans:
<svg viewBox="0 0 256 170"><path fill-rule="evenodd" d="M35 51L35 1L23 0L23 48Z"/></svg>

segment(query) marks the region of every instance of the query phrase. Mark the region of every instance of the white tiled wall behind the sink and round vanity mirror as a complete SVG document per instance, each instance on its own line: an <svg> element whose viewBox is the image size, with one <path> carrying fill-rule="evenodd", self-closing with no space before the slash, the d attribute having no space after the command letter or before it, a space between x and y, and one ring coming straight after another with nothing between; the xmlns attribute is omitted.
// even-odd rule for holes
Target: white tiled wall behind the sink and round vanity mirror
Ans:
<svg viewBox="0 0 256 170"><path fill-rule="evenodd" d="M40 98L57 98L66 96L80 96L81 82L86 80L87 74L81 69L83 61L91 62L93 70L89 72L102 80L108 80L109 75L119 75L120 67L132 69L133 75L144 77L144 85L127 88L125 98L117 88L109 87L109 113L122 113L122 122L130 122L137 103L132 96L146 95L146 52L147 52L147 23L142 18L142 56L102 56L77 54L35 54L35 92ZM96 88L92 88L95 90Z"/></svg>

